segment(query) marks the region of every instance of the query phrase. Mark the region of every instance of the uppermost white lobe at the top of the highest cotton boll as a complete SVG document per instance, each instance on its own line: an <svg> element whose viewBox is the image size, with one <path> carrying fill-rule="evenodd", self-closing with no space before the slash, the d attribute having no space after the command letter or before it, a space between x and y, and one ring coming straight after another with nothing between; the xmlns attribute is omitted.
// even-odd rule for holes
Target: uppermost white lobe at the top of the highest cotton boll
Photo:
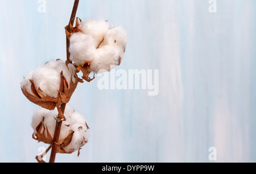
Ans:
<svg viewBox="0 0 256 174"><path fill-rule="evenodd" d="M79 28L84 34L92 35L98 44L109 30L109 23L102 19L86 19L80 23Z"/></svg>

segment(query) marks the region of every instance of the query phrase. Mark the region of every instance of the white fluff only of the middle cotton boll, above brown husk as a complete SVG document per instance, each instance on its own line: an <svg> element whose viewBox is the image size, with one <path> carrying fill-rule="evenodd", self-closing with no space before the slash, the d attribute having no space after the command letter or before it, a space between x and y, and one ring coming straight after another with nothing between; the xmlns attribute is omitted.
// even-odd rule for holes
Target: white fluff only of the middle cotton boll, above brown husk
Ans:
<svg viewBox="0 0 256 174"><path fill-rule="evenodd" d="M72 81L75 82L75 67L73 67L72 64L69 64L67 67L64 61L58 60L48 62L28 73L20 86L33 95L30 82L30 80L33 80L36 89L40 89L40 93L42 93L44 97L48 95L57 98L60 88L61 71L63 72L63 76L67 79L68 85L71 82L71 77Z"/></svg>

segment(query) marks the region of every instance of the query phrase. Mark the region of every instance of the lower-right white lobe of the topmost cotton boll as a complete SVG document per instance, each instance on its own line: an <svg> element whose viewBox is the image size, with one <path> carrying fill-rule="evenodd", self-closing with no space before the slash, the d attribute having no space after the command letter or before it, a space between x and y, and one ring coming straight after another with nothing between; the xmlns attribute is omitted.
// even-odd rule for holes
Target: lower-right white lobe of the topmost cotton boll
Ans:
<svg viewBox="0 0 256 174"><path fill-rule="evenodd" d="M121 63L123 57L122 48L115 45L105 45L97 49L96 55L90 65L94 73L110 71Z"/></svg>

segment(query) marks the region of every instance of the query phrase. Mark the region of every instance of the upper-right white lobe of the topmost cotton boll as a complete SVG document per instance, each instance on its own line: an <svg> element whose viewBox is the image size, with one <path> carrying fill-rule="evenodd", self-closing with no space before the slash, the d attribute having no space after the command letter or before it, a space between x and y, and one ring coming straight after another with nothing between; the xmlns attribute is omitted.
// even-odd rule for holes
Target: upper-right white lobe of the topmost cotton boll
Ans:
<svg viewBox="0 0 256 174"><path fill-rule="evenodd" d="M106 32L102 45L117 45L125 51L127 34L122 27L113 27Z"/></svg>

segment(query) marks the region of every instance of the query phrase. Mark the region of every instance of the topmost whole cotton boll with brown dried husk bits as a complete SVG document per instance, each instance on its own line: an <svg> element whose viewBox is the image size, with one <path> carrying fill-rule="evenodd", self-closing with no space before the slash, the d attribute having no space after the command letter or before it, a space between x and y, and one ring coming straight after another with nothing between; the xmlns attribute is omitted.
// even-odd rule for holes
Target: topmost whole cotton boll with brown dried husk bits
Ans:
<svg viewBox="0 0 256 174"><path fill-rule="evenodd" d="M120 65L127 44L127 34L122 27L110 27L107 20L86 19L79 24L76 20L70 38L70 59L82 71L86 81L91 81L91 72L110 71Z"/></svg>

